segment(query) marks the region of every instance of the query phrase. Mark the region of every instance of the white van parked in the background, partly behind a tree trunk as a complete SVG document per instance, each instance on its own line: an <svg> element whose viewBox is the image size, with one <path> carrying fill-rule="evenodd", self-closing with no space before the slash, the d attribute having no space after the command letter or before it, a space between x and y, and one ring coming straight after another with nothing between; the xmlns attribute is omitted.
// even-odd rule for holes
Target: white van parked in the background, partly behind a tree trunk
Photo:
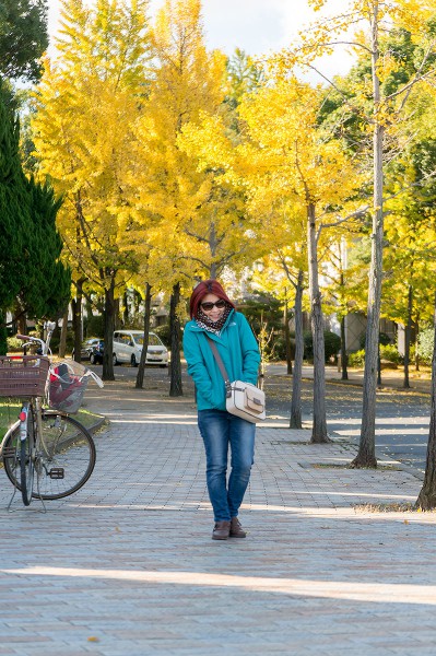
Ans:
<svg viewBox="0 0 436 656"><path fill-rule="evenodd" d="M116 330L114 332L114 364L128 362L138 366L144 342L142 330ZM168 350L154 332L149 333L145 364L168 366Z"/></svg>

